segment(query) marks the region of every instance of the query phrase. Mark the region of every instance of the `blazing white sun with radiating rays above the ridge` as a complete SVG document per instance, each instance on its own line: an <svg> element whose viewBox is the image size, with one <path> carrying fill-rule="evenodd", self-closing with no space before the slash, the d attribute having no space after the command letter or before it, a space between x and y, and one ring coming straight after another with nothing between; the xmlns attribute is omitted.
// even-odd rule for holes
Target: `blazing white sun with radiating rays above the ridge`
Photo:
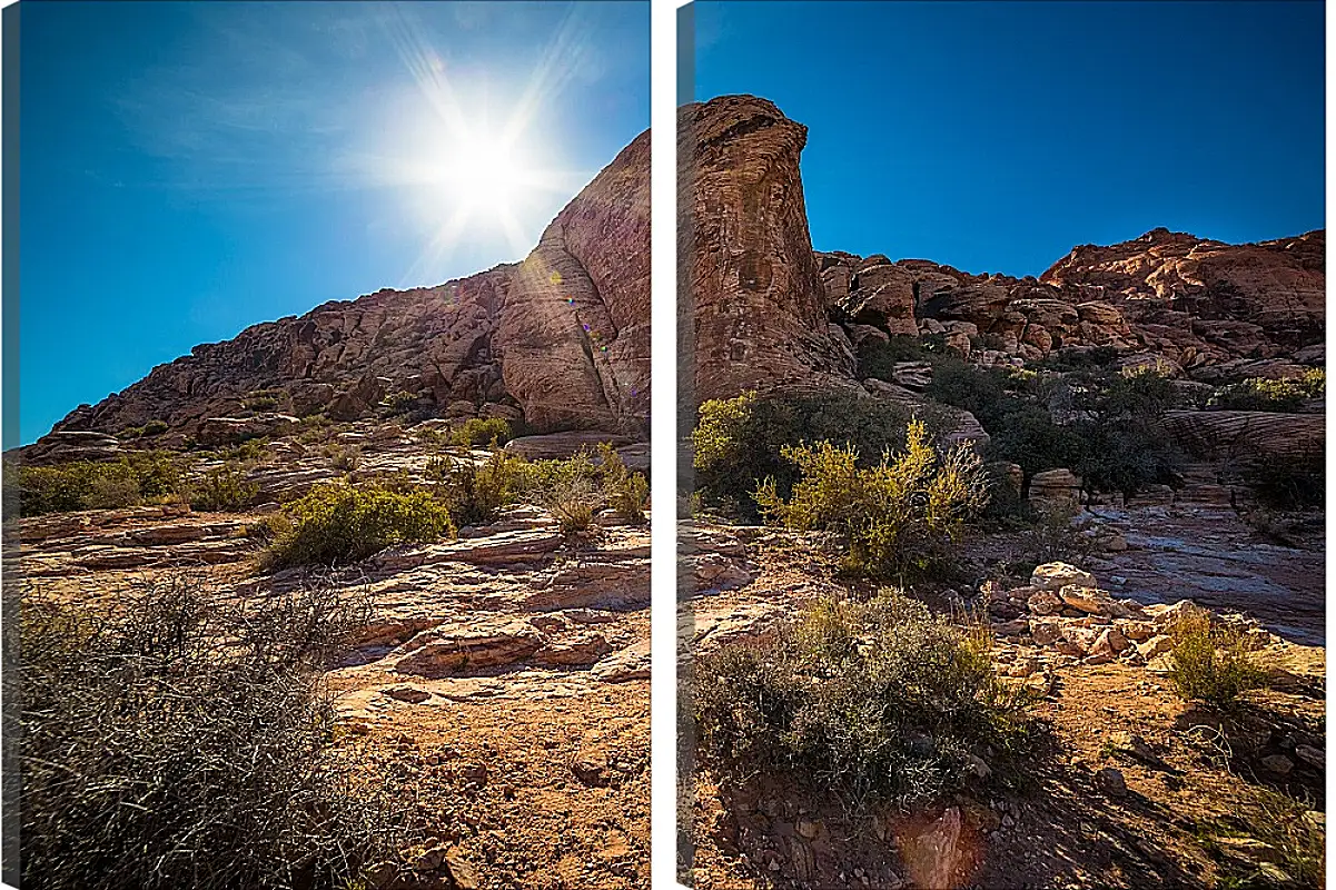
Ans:
<svg viewBox="0 0 1336 890"><path fill-rule="evenodd" d="M588 182L589 171L566 168L552 120L552 99L581 57L573 21L553 35L526 80L512 82L449 64L410 4L391 5L386 27L411 82L386 91L367 150L346 164L365 182L393 187L399 215L421 230L405 285L432 281L457 249L522 259Z"/></svg>

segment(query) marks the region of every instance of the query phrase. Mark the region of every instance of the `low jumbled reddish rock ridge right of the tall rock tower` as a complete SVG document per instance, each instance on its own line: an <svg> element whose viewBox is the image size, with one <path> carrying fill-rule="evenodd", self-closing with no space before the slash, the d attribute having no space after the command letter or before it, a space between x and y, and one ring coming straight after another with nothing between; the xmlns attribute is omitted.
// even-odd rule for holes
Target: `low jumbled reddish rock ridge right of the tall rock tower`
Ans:
<svg viewBox="0 0 1336 890"><path fill-rule="evenodd" d="M983 365L1104 346L1126 363L1209 376L1300 353L1321 361L1324 245L1323 231L1225 245L1157 229L1077 247L1038 279L880 255L818 259L828 313L856 343L878 331L941 337Z"/></svg>

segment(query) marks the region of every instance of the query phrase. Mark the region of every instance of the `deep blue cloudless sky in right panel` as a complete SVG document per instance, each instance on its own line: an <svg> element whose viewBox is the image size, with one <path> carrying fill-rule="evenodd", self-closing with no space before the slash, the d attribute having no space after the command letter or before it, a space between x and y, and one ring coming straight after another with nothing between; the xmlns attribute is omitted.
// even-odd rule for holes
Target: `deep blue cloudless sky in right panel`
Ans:
<svg viewBox="0 0 1336 890"><path fill-rule="evenodd" d="M1038 275L1166 226L1321 229L1311 1L696 3L695 96L808 127L818 250Z"/></svg>

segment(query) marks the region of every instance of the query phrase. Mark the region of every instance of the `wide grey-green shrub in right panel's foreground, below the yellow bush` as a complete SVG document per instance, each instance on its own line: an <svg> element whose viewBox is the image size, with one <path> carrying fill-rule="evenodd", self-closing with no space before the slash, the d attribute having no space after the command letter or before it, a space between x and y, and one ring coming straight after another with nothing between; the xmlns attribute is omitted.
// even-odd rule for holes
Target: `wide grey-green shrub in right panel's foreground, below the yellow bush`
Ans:
<svg viewBox="0 0 1336 890"><path fill-rule="evenodd" d="M971 755L1002 775L1038 738L1029 696L995 676L986 644L915 600L819 600L767 643L696 659L697 743L724 771L931 802L965 784Z"/></svg>

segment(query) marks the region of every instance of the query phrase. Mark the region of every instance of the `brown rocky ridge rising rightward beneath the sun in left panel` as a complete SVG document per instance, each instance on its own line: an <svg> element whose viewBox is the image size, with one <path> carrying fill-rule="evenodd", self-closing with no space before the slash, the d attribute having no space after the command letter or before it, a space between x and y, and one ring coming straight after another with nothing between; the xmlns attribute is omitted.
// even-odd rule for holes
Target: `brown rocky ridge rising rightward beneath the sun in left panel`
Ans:
<svg viewBox="0 0 1336 890"><path fill-rule="evenodd" d="M522 263L255 325L80 406L55 429L115 433L160 420L194 432L243 412L257 393L278 410L337 420L398 397L456 417L520 416L537 432L643 432L648 131L557 215Z"/></svg>

